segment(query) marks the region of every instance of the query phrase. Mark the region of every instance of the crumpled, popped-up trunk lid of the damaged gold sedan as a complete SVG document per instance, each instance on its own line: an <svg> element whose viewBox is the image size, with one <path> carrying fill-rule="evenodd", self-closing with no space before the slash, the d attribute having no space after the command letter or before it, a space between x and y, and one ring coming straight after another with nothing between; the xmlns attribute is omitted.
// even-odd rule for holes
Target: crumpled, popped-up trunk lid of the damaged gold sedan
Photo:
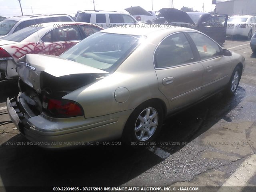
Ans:
<svg viewBox="0 0 256 192"><path fill-rule="evenodd" d="M104 78L108 72L59 58L57 56L26 54L17 61L22 82L38 92L62 97L86 84Z"/></svg>

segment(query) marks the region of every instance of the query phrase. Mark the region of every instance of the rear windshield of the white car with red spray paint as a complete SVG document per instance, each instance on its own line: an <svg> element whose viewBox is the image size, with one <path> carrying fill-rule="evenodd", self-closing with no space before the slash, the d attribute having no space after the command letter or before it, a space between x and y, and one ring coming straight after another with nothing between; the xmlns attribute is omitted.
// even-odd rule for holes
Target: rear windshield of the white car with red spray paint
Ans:
<svg viewBox="0 0 256 192"><path fill-rule="evenodd" d="M28 36L32 35L34 32L40 29L42 29L42 27L26 27L13 34L3 37L2 39L8 41L21 42L22 40L26 39Z"/></svg>

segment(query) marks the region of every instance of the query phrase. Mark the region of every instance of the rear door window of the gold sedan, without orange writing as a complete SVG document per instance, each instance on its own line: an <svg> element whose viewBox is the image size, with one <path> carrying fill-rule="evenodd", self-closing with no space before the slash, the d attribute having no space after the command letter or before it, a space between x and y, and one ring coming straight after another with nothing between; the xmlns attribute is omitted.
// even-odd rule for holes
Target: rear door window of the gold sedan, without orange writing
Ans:
<svg viewBox="0 0 256 192"><path fill-rule="evenodd" d="M156 68L165 68L195 61L190 44L184 33L164 39L156 49Z"/></svg>

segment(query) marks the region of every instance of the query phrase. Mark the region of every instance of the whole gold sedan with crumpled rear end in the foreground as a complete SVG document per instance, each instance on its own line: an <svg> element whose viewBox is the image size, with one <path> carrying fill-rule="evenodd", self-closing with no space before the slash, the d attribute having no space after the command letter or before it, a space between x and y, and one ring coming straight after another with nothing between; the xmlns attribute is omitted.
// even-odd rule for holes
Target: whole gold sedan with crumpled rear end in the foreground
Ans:
<svg viewBox="0 0 256 192"><path fill-rule="evenodd" d="M234 94L244 61L193 29L109 28L59 57L20 58L20 93L7 108L45 148L150 142L167 116L223 89Z"/></svg>

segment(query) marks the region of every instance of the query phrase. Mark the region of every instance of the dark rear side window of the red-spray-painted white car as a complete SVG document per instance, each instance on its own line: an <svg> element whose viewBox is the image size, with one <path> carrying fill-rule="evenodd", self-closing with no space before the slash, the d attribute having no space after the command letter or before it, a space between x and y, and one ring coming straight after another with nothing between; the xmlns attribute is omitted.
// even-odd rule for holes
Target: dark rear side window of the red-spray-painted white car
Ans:
<svg viewBox="0 0 256 192"><path fill-rule="evenodd" d="M82 40L78 26L64 26L51 30L42 38L42 42L77 41Z"/></svg>

